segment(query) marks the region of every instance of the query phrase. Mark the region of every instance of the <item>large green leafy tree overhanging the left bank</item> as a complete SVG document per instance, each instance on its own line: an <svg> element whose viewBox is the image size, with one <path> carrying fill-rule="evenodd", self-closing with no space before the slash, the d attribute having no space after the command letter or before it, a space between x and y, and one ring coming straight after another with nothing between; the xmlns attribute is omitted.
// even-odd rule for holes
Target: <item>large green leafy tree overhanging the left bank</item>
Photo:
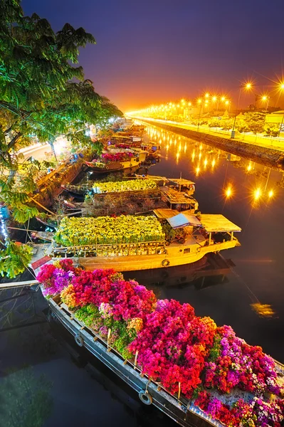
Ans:
<svg viewBox="0 0 284 427"><path fill-rule="evenodd" d="M105 125L121 112L95 93L75 65L79 48L95 43L90 33L69 23L54 33L46 19L23 16L19 0L0 0L0 10L0 202L22 223L38 211L28 204L32 180L15 179L19 149L35 137L53 147L58 135L75 147L101 149L86 135L88 124ZM0 257L6 257L9 244L5 238Z"/></svg>

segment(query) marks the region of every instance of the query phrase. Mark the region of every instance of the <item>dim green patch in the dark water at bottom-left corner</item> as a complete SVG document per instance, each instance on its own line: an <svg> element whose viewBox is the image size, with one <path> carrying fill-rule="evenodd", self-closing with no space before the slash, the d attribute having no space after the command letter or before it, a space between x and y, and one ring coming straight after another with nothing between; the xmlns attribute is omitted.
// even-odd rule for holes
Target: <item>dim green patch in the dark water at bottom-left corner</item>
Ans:
<svg viewBox="0 0 284 427"><path fill-rule="evenodd" d="M31 368L7 373L0 381L1 426L42 427L51 414L52 383Z"/></svg>

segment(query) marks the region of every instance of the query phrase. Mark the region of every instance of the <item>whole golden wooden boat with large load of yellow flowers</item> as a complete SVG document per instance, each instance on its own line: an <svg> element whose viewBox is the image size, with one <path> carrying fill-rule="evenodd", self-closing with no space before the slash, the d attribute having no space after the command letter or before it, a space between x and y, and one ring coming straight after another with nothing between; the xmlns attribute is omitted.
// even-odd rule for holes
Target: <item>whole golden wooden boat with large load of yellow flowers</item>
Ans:
<svg viewBox="0 0 284 427"><path fill-rule="evenodd" d="M86 270L106 265L117 271L167 268L239 246L233 235L239 231L223 215L203 214L199 221L190 211L172 209L157 209L153 216L65 217L49 255L75 258Z"/></svg>

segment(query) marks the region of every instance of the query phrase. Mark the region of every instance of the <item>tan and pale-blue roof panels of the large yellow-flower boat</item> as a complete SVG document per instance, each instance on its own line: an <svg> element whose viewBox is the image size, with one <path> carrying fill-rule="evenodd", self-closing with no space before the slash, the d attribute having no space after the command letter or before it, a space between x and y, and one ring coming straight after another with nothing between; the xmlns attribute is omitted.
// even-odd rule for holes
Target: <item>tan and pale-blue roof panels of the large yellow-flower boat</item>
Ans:
<svg viewBox="0 0 284 427"><path fill-rule="evenodd" d="M175 216L168 216L167 221L172 228L197 226L203 227L207 233L211 232L226 232L226 231L241 231L241 228L229 221L225 216L220 214L202 214L199 221L196 216L189 214L189 211L184 211Z"/></svg>

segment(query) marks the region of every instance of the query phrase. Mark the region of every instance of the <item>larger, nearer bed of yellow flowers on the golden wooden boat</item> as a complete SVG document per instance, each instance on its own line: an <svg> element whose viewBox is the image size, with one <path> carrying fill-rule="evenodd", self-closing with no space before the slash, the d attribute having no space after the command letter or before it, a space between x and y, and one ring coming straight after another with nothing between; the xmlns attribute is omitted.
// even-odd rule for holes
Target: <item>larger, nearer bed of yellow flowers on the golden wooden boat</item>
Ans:
<svg viewBox="0 0 284 427"><path fill-rule="evenodd" d="M63 246L162 240L164 233L156 216L66 216L61 220L55 235L55 241Z"/></svg>

